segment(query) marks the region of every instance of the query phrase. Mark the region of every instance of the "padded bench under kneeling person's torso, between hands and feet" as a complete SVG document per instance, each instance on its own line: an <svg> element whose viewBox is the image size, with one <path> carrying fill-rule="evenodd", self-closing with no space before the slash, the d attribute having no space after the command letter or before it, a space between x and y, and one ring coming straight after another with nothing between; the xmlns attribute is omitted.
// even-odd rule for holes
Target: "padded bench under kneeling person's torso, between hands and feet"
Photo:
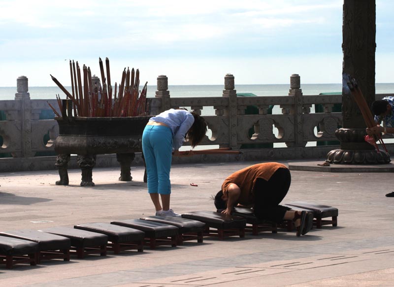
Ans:
<svg viewBox="0 0 394 287"><path fill-rule="evenodd" d="M244 207L234 207L231 215L240 216L246 219L246 232L252 232L252 235L258 235L259 232L271 231L277 233L277 224L273 221L258 219L253 209Z"/></svg>

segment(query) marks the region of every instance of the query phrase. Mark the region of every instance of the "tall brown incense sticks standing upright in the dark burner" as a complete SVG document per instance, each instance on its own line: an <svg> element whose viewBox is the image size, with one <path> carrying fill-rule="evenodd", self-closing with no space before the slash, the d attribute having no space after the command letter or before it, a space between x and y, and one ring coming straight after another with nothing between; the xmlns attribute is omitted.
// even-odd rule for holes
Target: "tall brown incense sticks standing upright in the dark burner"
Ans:
<svg viewBox="0 0 394 287"><path fill-rule="evenodd" d="M101 58L99 67L102 87L98 82L92 81L90 67L83 65L82 74L78 62L70 60L71 93L51 75L52 80L66 94L66 98L71 99L74 116L81 117L125 117L145 115L146 113L146 92L145 83L139 91L139 71L134 72L134 68L126 68L122 73L122 80L119 84L115 82L114 93L112 94L111 75L109 70L109 60L105 58L106 76ZM83 79L83 85L82 85ZM56 96L60 110L62 101ZM56 115L55 108L49 105Z"/></svg>

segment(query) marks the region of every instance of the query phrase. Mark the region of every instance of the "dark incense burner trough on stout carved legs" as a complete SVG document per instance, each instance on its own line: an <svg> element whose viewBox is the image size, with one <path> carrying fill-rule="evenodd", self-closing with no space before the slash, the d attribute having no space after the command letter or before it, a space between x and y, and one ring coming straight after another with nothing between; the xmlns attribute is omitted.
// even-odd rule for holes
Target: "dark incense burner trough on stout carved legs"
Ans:
<svg viewBox="0 0 394 287"><path fill-rule="evenodd" d="M82 170L81 186L94 186L92 170L97 154L116 153L121 165L119 180L132 179L130 165L135 152L142 151L141 138L151 116L134 117L70 117L62 113L56 117L59 136L54 142L58 153L56 166L59 169L58 185L68 185L67 165L70 154L77 154L77 163Z"/></svg>

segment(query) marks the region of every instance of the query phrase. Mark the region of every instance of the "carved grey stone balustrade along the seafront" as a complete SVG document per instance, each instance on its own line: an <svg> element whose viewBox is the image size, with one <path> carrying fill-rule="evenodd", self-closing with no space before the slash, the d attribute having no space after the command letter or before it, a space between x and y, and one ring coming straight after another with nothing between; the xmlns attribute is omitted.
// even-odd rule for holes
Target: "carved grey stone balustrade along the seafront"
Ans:
<svg viewBox="0 0 394 287"><path fill-rule="evenodd" d="M328 151L335 147L308 146L307 143L337 140L334 134L342 124L342 113L333 112L332 108L334 104L341 103L341 95L303 96L297 74L291 75L289 94L283 96L237 97L234 76L227 74L224 83L222 97L171 98L168 79L160 75L157 78L155 98L151 98L151 114L182 107L201 114L204 108L213 108L213 115L204 115L209 137L207 136L201 145L232 149L240 149L248 144L269 146L242 149L243 154L232 160L325 158ZM28 78L25 76L17 79L15 100L0 101L0 111L5 115L5 119L0 121L0 154L12 156L0 158L0 171L51 169L48 162L52 159L49 157L34 158L42 152L53 152L53 141L59 134L58 124L54 119L42 119L45 118L43 114L52 112L48 103L58 108L56 99L31 100ZM324 112L311 113L312 106L317 104L323 107ZM268 110L272 105L280 107L281 113L270 114ZM248 106L257 107L259 113L246 114L245 109ZM58 112L60 113L59 110ZM254 130L252 136L251 128ZM282 143L282 147L273 147L273 144L277 143ZM189 159L175 159L174 162L231 160L228 157L201 155ZM29 166L30 161L34 164ZM47 164L43 164L44 162Z"/></svg>

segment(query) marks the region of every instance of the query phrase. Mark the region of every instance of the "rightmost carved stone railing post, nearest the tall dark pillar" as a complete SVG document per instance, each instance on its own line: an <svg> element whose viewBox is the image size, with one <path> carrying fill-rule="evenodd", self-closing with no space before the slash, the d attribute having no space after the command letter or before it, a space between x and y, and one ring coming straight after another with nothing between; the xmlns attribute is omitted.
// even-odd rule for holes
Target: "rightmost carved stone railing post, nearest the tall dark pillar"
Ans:
<svg viewBox="0 0 394 287"><path fill-rule="evenodd" d="M287 146L305 146L304 132L302 127L302 112L304 111L300 77L298 74L290 76L289 97L294 97L294 106L290 109L290 114L294 115L294 142L286 143Z"/></svg>

